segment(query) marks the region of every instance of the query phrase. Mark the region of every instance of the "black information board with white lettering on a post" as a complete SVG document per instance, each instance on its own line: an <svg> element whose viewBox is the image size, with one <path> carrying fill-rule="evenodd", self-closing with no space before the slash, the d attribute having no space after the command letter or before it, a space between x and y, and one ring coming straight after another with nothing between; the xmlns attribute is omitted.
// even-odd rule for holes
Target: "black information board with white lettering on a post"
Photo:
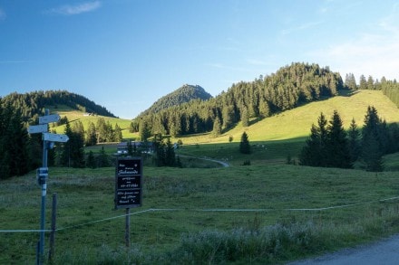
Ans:
<svg viewBox="0 0 399 265"><path fill-rule="evenodd" d="M115 173L115 208L140 207L141 191L141 157L118 158Z"/></svg>

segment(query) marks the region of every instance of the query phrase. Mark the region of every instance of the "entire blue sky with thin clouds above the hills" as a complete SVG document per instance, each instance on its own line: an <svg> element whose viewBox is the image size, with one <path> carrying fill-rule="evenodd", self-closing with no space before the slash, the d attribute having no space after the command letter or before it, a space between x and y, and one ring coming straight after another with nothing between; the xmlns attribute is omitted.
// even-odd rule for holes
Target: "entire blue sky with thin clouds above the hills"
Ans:
<svg viewBox="0 0 399 265"><path fill-rule="evenodd" d="M291 62L399 78L390 0L0 0L0 38L0 97L69 90L121 118L186 83L216 96Z"/></svg>

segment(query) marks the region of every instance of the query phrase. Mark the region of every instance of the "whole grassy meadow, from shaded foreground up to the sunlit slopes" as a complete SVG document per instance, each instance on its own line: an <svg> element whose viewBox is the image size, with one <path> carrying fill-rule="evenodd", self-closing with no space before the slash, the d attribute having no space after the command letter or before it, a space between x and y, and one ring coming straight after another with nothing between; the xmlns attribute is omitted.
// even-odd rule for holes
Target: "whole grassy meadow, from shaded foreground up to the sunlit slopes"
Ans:
<svg viewBox="0 0 399 265"><path fill-rule="evenodd" d="M361 127L369 105L387 122L399 122L399 109L381 91L365 90L253 120L248 128L238 124L220 137L174 139L183 142L177 150L183 168L154 167L151 157L145 158L142 206L131 209L130 247L124 239L125 211L113 205L114 167L50 167L46 228L52 194L58 194L53 263L278 264L397 233L398 154L384 156L385 171L378 174L296 165L320 112L330 118L337 109L345 127L352 118ZM57 111L84 126L96 118ZM122 129L130 125L130 120L108 120ZM238 152L243 131L250 155ZM104 147L112 154L115 145L86 151ZM242 166L245 161L250 165ZM41 190L35 182L34 172L0 182L0 264L35 260L39 234L29 232L40 222Z"/></svg>

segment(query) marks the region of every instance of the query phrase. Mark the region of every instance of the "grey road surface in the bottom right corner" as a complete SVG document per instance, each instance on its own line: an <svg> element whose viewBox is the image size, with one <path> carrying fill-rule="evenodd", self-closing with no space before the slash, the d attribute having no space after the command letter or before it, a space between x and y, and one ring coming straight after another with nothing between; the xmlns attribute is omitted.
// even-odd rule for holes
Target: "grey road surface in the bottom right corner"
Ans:
<svg viewBox="0 0 399 265"><path fill-rule="evenodd" d="M300 260L289 265L396 265L399 264L399 234L383 241L326 254L316 259Z"/></svg>

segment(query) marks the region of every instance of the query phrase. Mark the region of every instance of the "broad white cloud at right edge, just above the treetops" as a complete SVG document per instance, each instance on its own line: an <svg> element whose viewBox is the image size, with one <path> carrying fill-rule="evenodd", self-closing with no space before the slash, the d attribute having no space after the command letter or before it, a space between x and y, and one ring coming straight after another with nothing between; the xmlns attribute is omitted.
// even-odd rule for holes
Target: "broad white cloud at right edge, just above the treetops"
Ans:
<svg viewBox="0 0 399 265"><path fill-rule="evenodd" d="M342 75L352 72L356 77L371 75L375 79L385 76L397 79L399 69L399 26L397 15L382 18L355 38L332 44L326 49L309 52L316 62L323 62Z"/></svg>

